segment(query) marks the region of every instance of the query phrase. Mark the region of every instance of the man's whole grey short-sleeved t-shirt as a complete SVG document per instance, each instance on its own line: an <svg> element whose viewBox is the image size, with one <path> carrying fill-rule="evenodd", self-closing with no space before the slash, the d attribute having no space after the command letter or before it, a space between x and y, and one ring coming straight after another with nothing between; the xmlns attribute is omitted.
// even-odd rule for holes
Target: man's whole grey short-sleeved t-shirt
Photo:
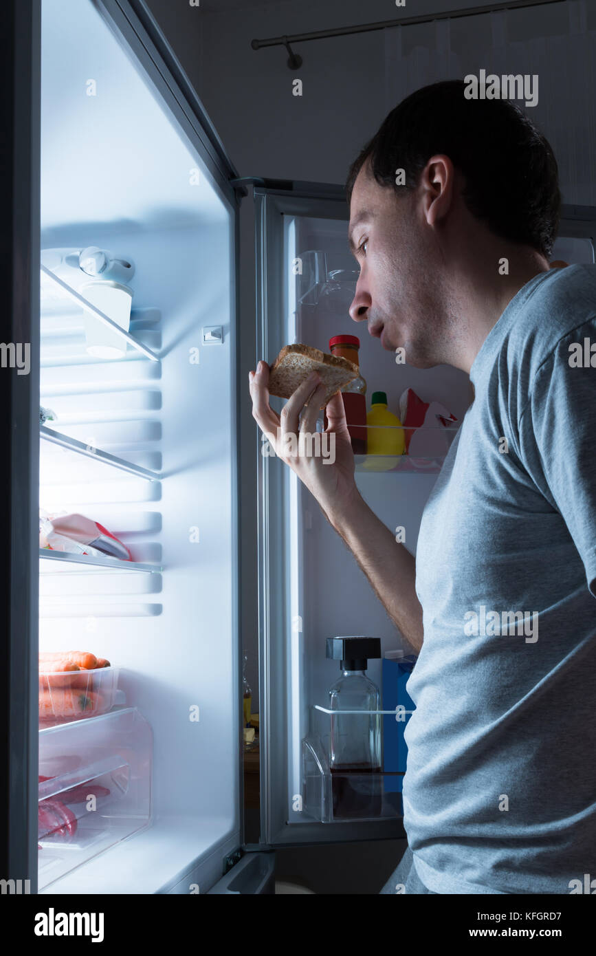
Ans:
<svg viewBox="0 0 596 956"><path fill-rule="evenodd" d="M404 826L436 893L594 892L596 266L523 286L470 378L418 536Z"/></svg>

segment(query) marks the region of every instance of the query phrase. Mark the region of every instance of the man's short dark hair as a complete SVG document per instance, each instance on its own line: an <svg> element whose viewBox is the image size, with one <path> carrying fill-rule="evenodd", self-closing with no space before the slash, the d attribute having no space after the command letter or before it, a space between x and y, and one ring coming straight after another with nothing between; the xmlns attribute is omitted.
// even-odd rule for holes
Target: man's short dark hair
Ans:
<svg viewBox="0 0 596 956"><path fill-rule="evenodd" d="M379 185L414 189L431 156L443 153L463 174L466 206L496 235L550 256L559 228L561 193L549 142L509 99L466 99L463 80L416 90L383 120L351 164L348 202L370 161ZM395 185L404 170L405 185Z"/></svg>

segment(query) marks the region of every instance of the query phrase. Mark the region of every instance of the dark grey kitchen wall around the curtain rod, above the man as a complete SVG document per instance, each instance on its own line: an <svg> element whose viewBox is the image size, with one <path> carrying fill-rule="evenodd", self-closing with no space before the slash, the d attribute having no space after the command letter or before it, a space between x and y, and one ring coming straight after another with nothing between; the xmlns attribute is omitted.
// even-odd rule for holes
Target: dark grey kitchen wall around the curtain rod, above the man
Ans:
<svg viewBox="0 0 596 956"><path fill-rule="evenodd" d="M472 65L478 62L477 70L482 66L490 70L491 51L502 47L509 51L507 68L513 72L534 72L536 57L544 51L543 94L530 115L549 126L547 133L555 137L556 129L582 128L585 152L593 147L593 56L587 51L594 52L594 37L585 34L596 30L596 4L586 0L464 17L443 26L418 25L403 31L296 43L294 50L304 59L298 71L287 68L283 47L254 51L250 41L490 4L480 0L405 0L404 6L394 0L200 0L200 6L191 6L193 2L149 0L149 5L243 176L343 182L353 155L416 82L457 76L452 70L458 69L458 59ZM401 34L399 39L396 33ZM565 41L559 43L557 37L563 35ZM445 55L447 50L452 57ZM400 73L397 54L412 62L412 77ZM420 59L426 61L426 77L420 73ZM292 96L295 77L303 80L302 97ZM556 117L549 115L553 101ZM560 148L565 148L563 140ZM576 160L581 162L581 157ZM564 183L568 193L572 177L570 170Z"/></svg>

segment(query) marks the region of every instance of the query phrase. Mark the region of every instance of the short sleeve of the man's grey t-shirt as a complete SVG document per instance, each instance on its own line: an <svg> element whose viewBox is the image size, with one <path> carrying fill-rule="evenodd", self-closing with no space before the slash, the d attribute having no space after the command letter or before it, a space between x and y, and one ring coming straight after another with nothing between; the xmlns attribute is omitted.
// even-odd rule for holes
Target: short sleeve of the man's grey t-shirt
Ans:
<svg viewBox="0 0 596 956"><path fill-rule="evenodd" d="M523 463L563 516L596 597L596 348L590 352L590 344L596 346L596 318L562 338L541 364L519 434Z"/></svg>

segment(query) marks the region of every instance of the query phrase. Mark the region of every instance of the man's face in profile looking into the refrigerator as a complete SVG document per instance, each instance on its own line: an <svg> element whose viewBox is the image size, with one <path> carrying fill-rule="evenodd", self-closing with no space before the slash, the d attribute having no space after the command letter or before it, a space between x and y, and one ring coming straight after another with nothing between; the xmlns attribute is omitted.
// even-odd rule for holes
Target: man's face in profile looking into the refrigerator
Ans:
<svg viewBox="0 0 596 956"><path fill-rule="evenodd" d="M433 232L418 191L397 196L360 170L351 194L349 237L360 275L350 315L366 321L389 352L405 348L409 365L429 368L441 362L445 287Z"/></svg>

